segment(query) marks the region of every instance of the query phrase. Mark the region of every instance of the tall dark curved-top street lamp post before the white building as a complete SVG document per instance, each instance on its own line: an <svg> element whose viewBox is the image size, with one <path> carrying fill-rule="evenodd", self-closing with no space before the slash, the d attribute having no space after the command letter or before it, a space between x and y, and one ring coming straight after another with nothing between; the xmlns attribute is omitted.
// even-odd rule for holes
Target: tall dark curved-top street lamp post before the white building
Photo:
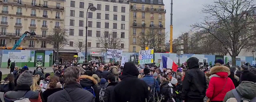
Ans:
<svg viewBox="0 0 256 102"><path fill-rule="evenodd" d="M91 11L96 11L97 8L94 7L93 5L90 5L88 8L87 8L87 12L86 12L86 27L85 27L85 57L84 57L84 60L87 61L87 22L88 22L88 10L91 10Z"/></svg>

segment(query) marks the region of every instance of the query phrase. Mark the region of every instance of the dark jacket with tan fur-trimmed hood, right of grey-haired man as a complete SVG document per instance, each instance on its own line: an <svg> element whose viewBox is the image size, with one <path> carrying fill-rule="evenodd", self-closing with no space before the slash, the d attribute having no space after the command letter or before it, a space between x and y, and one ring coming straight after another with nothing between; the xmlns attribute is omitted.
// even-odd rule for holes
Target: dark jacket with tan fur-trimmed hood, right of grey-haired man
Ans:
<svg viewBox="0 0 256 102"><path fill-rule="evenodd" d="M95 93L95 102L99 102L99 93L100 91L98 91L98 88L96 86L97 84L97 80L93 77L90 77L88 75L81 75L80 76L80 84L82 86L82 88L84 87L92 87L94 89L94 93Z"/></svg>

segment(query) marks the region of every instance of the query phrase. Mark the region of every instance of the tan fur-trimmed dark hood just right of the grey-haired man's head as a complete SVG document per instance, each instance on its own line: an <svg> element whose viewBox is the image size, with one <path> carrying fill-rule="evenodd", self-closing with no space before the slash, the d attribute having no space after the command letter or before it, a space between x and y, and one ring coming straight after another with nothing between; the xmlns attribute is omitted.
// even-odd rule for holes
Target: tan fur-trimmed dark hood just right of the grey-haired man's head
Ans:
<svg viewBox="0 0 256 102"><path fill-rule="evenodd" d="M93 86L97 84L97 80L93 77L90 77L88 75L81 75L80 76L80 84L82 87L88 87L88 86Z"/></svg>

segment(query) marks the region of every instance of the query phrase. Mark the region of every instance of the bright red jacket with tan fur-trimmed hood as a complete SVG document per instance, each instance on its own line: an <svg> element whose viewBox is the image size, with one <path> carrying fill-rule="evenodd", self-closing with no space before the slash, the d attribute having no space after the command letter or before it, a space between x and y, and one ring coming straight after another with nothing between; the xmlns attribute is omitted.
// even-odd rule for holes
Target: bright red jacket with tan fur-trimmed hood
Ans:
<svg viewBox="0 0 256 102"><path fill-rule="evenodd" d="M210 73L210 82L206 96L211 101L223 101L226 93L235 88L232 80L228 78L230 69L223 65L214 66L210 69Z"/></svg>

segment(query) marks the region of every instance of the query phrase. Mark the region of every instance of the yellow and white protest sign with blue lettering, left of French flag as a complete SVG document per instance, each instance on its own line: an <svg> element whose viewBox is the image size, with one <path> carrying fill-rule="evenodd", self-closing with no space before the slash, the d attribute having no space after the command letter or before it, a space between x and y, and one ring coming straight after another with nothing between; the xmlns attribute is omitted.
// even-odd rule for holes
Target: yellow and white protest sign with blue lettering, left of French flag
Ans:
<svg viewBox="0 0 256 102"><path fill-rule="evenodd" d="M154 49L140 51L138 58L139 65L154 63Z"/></svg>

